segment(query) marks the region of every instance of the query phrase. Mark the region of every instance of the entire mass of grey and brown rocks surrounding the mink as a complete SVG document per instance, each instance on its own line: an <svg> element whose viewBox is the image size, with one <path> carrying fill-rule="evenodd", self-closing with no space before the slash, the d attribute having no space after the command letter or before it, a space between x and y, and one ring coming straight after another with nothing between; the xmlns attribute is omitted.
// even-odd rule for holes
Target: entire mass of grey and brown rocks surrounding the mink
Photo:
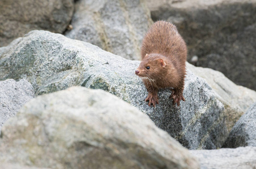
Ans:
<svg viewBox="0 0 256 169"><path fill-rule="evenodd" d="M253 88L254 1L0 6L0 168L256 167L256 92L219 69ZM177 25L189 61L225 74L186 63L179 107L168 88L149 107L134 73L150 12Z"/></svg>

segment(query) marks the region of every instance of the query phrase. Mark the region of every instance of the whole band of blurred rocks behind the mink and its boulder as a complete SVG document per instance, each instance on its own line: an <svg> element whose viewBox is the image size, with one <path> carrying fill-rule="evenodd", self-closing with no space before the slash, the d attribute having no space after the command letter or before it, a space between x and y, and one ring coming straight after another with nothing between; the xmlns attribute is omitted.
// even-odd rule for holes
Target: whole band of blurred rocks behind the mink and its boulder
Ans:
<svg viewBox="0 0 256 169"><path fill-rule="evenodd" d="M153 21L175 24L187 61L256 90L256 0L0 0L0 47L48 30L140 60Z"/></svg>

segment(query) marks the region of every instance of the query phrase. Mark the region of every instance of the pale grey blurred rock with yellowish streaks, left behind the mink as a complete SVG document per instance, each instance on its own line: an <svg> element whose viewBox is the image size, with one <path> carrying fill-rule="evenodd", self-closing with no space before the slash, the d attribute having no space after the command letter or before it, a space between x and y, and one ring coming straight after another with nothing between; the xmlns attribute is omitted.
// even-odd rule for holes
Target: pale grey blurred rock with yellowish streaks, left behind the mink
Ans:
<svg viewBox="0 0 256 169"><path fill-rule="evenodd" d="M74 29L66 33L67 37L139 60L142 39L152 20L141 0L81 0L75 5L71 24Z"/></svg>

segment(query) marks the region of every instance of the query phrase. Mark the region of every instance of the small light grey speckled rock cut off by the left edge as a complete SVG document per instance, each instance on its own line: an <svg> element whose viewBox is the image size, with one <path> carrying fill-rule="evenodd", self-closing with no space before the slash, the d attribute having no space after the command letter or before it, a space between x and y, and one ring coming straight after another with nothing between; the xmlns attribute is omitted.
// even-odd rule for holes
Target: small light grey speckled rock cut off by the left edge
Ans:
<svg viewBox="0 0 256 169"><path fill-rule="evenodd" d="M35 95L33 86L21 79L15 82L14 79L0 81L0 133L3 123Z"/></svg>

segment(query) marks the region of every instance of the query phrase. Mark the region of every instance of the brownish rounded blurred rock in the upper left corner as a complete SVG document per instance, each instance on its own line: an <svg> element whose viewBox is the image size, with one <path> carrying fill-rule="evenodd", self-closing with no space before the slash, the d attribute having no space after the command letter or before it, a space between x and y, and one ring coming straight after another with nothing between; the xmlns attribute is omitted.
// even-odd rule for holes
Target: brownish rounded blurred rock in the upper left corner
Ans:
<svg viewBox="0 0 256 169"><path fill-rule="evenodd" d="M73 11L73 0L0 1L0 47L35 29L63 33Z"/></svg>

